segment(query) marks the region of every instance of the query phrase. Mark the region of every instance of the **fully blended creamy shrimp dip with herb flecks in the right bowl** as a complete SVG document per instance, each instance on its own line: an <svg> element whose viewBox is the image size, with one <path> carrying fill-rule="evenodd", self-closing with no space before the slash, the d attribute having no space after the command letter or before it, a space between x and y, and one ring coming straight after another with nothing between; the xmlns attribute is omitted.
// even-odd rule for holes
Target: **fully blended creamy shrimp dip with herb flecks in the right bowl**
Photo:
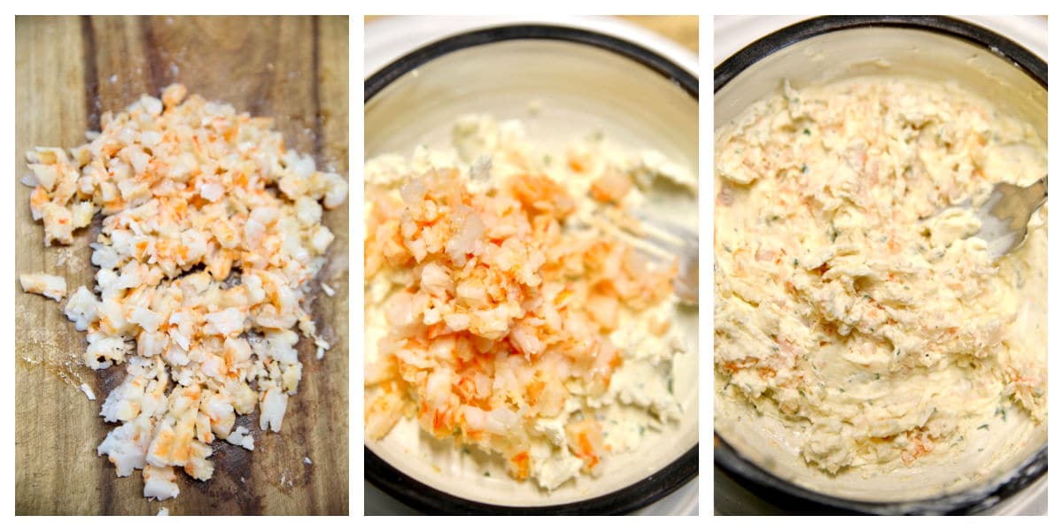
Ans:
<svg viewBox="0 0 1063 531"><path fill-rule="evenodd" d="M775 418L830 477L1046 433L1047 209L994 263L961 205L1046 174L1029 124L949 84L786 84L715 161L718 425Z"/></svg>

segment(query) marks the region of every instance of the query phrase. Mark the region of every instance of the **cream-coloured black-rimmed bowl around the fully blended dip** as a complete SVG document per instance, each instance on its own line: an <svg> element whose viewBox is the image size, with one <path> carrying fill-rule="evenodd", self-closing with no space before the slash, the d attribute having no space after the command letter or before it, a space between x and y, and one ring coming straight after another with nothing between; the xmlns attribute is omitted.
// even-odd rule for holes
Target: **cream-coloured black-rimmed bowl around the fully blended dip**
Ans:
<svg viewBox="0 0 1063 531"><path fill-rule="evenodd" d="M772 33L715 68L714 126L776 93L782 80L799 89L855 76L907 76L957 83L1001 113L1030 123L1047 139L1047 71L1043 59L1020 46L959 19L821 17ZM897 473L873 477L832 478L804 463L781 423L766 415L745 415L748 411L741 407L716 400L715 465L787 511L986 512L1048 469L1047 429L1024 424L1024 416L1016 414L1010 415L1007 429L996 430L1005 435L986 439L984 445L967 445L971 452L978 446L999 451L964 453L926 467L916 461ZM983 435L988 432L978 435L988 438ZM992 459L984 458L991 453Z"/></svg>

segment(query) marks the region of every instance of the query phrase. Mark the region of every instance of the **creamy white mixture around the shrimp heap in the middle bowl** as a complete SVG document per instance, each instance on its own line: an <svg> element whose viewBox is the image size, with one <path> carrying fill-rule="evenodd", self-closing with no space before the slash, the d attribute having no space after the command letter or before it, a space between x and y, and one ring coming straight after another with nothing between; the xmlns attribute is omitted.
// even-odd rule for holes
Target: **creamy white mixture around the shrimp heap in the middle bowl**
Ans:
<svg viewBox="0 0 1063 531"><path fill-rule="evenodd" d="M621 151L602 139L601 135L592 135L586 141L571 145L564 153L546 153L526 138L523 126L518 121L499 122L490 117L469 116L456 122L453 130L453 145L450 149L429 151L418 148L412 157L384 155L368 161L367 198L373 196L372 190L398 196L402 193L400 190L404 185L412 178L451 168L457 171L457 183L477 194L493 194L493 189L501 188L517 175L535 173L547 176L574 200L575 211L566 222L563 229L586 232L591 239L595 235L602 237L603 233L598 226L609 219L605 211L619 210L606 204L608 202L600 201L606 191L595 190L595 183L598 183L601 188L604 175L624 176L618 177L619 181L607 179L609 183L606 188L609 188L608 192L619 190L618 195L622 199L617 198L620 200L618 203L622 203L625 208L637 207L643 202L640 188L648 187L659 176L692 191L696 190L696 181L689 173L670 165L654 152L632 154ZM598 200L592 199L595 194L598 195ZM374 203L378 204L379 201L367 203L367 216L371 215ZM487 225L490 234L491 224ZM367 260L374 254L370 247L375 249L378 245L378 241L367 244ZM417 284L417 280L411 278L412 270L409 268L383 267L369 273L370 269L367 266L365 336L367 436L370 439L402 436L416 440L423 434L422 430L411 429L411 426L418 425L417 419L412 418L416 415L398 414L401 409L399 407L388 410L374 408L374 400L379 400L375 402L377 405L384 404L385 400L381 396L386 396L387 392L382 388L390 384L385 378L378 377L382 372L378 345L382 339L394 329L388 321L386 307L396 290L410 289L409 287ZM423 273L423 270L420 271ZM423 285L423 274L421 278ZM579 282L576 278L572 280ZM542 289L549 291L549 287ZM459 298L460 291L459 288ZM669 296L649 308L624 307L619 311L615 323L604 328L609 342L619 347L622 359L619 366L606 379L607 388L604 392L594 391L588 384L593 381L593 377L572 377L564 381L566 389L561 393L566 396L563 406L552 415L539 414L541 411L536 413L538 410L534 404L532 409L525 409L526 405L521 404L519 411L527 411L525 414L533 415L530 424L522 426L521 423L516 423L510 427L510 431L522 432L519 438L521 443L513 443L509 436L511 433L508 435L500 433L486 443L476 439L475 430L470 436L470 423L463 416L456 422L461 429L455 433L455 441L467 446L463 451L468 451L468 447L482 448L512 460L520 457L520 450L525 448L522 444L526 438L527 475L525 476L519 466L511 463L507 463L508 472L518 479L534 478L546 491L557 489L581 473L595 475L598 470L596 457L595 461L588 462L587 456L579 455L579 444L572 440L573 436L578 436L579 431L574 430L573 426L583 426L586 419L593 418L601 427L602 439L601 443L594 446L601 446L605 450L604 453L617 453L637 449L647 430L671 429L667 425L680 422L682 411L673 394L672 366L673 357L684 355L687 346L676 333L661 329L662 326L667 328L663 323L673 320L674 314L674 296ZM425 325L433 322L431 311L419 319L422 319ZM598 319L594 316L592 321ZM504 326L499 328L502 329ZM451 329L452 327L448 328L448 332ZM480 330L477 335L486 336L487 332ZM512 336L510 340L512 341ZM519 338L517 342L520 342ZM547 360L549 354L544 355ZM554 365L551 363L547 361L540 364L539 370L552 371L551 367ZM501 365L496 363L496 366ZM436 366L434 374L438 375L440 370L440 366ZM503 381L497 369L495 376L492 388L497 395L499 390L507 383ZM550 388L546 392L550 393ZM426 396L406 399L431 401ZM517 401L523 400L518 398ZM517 407L513 406L514 409ZM497 410L490 411L489 414ZM423 422L421 426L424 426ZM526 433L522 430L526 430ZM445 439L450 434L442 435ZM453 451L458 452L462 449L453 448Z"/></svg>

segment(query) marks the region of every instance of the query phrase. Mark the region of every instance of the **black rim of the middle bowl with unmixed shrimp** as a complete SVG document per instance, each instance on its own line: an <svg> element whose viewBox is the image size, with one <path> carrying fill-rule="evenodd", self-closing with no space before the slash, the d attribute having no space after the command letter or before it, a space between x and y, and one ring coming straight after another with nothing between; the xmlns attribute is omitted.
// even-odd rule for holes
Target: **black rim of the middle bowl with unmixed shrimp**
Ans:
<svg viewBox="0 0 1063 531"><path fill-rule="evenodd" d="M399 57L366 79L365 103L368 104L394 81L433 59L476 46L510 40L571 42L612 52L664 76L698 101L698 79L695 74L640 45L579 28L517 23L458 33ZM696 478L698 445L695 443L671 463L635 483L594 498L551 506L499 506L455 496L403 474L364 445L365 479L389 496L428 514L625 514L672 494Z"/></svg>

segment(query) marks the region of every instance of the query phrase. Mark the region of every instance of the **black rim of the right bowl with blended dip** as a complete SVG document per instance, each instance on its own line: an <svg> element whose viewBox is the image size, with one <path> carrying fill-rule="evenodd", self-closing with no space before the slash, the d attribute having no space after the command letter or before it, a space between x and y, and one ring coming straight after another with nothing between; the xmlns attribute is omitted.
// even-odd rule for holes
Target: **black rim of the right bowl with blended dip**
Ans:
<svg viewBox="0 0 1063 531"><path fill-rule="evenodd" d="M861 15L823 16L803 20L746 45L713 69L713 93L719 92L746 68L783 48L819 35L863 28L922 30L988 47L1002 59L1026 72L1045 90L1048 89L1048 64L1043 58L981 25L946 16ZM861 501L799 486L745 459L714 430L713 465L758 495L765 497L766 494L766 499L774 503L806 513L841 511L855 514L972 514L991 510L1047 474L1048 445L1046 443L1009 473L1012 477L1001 480L1008 477L1005 474L993 478L989 489L979 485L952 494L899 502ZM999 483L994 483L996 481Z"/></svg>

